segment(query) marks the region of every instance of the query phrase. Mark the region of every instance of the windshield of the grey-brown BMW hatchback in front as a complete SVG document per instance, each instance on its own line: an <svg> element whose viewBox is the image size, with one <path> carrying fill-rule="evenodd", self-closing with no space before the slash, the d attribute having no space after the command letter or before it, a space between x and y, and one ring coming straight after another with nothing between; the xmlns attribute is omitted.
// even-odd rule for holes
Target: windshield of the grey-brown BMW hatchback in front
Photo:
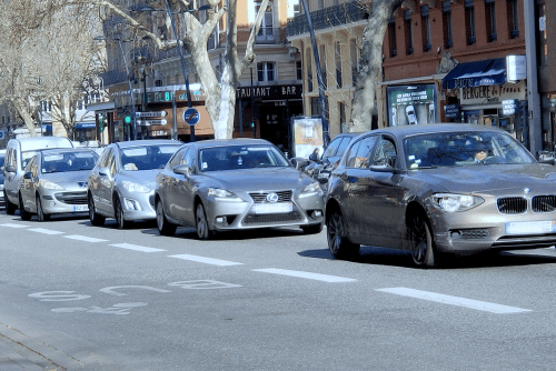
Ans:
<svg viewBox="0 0 556 371"><path fill-rule="evenodd" d="M404 148L409 169L535 162L514 138L498 131L411 136L404 140Z"/></svg>

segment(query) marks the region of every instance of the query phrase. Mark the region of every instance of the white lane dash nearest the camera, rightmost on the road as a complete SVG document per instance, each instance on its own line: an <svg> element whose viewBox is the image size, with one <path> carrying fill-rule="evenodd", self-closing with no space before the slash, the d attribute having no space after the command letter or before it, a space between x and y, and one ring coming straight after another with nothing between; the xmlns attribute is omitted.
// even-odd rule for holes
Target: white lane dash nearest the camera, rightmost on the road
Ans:
<svg viewBox="0 0 556 371"><path fill-rule="evenodd" d="M486 311L486 312L496 313L496 314L519 313L519 312L530 312L532 311L529 309L502 305L502 304L490 303L487 301L479 301L479 300L465 299L465 298L459 298L459 297L445 295L441 293L414 290L414 289L408 289L408 288L390 288L390 289L375 289L375 290L381 291L381 292L394 293L396 295L435 301L437 303L443 303L443 304L451 304L451 305L476 309L476 310Z"/></svg>

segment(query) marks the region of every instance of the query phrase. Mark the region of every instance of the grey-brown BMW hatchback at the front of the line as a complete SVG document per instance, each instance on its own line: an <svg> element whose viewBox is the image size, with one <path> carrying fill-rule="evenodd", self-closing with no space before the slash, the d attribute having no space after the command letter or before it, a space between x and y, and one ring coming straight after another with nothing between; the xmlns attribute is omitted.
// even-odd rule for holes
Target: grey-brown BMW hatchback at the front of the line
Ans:
<svg viewBox="0 0 556 371"><path fill-rule="evenodd" d="M406 249L434 267L446 253L556 244L556 167L507 132L476 124L385 128L351 142L329 181L328 247Z"/></svg>

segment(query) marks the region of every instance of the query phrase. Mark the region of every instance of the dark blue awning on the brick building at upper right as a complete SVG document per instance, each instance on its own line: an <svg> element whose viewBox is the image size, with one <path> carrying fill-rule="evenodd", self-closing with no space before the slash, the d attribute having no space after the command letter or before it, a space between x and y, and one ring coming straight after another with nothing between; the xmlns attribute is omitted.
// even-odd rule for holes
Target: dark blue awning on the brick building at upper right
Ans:
<svg viewBox="0 0 556 371"><path fill-rule="evenodd" d="M506 58L459 63L443 80L443 89L502 86L506 82Z"/></svg>

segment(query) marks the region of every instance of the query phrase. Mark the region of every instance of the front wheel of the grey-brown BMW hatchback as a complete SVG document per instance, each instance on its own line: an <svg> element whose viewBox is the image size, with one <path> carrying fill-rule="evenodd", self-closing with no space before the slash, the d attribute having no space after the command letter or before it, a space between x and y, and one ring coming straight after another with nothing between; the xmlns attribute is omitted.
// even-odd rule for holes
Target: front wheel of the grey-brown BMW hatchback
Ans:
<svg viewBox="0 0 556 371"><path fill-rule="evenodd" d="M433 241L433 233L427 218L423 212L416 212L410 219L411 258L414 264L423 268L437 265L437 254Z"/></svg>

